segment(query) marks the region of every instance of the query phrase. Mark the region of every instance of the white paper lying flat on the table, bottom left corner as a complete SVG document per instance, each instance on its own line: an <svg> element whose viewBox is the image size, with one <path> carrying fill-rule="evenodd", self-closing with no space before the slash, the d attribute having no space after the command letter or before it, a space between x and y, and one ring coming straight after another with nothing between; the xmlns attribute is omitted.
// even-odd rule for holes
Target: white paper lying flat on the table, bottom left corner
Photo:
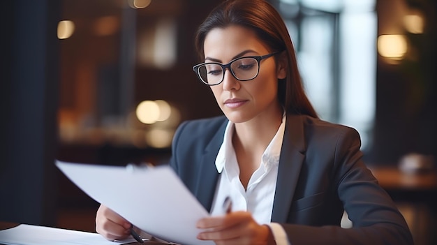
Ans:
<svg viewBox="0 0 437 245"><path fill-rule="evenodd" d="M0 243L6 245L116 245L127 242L132 241L110 242L97 233L37 225L22 224L0 230Z"/></svg>

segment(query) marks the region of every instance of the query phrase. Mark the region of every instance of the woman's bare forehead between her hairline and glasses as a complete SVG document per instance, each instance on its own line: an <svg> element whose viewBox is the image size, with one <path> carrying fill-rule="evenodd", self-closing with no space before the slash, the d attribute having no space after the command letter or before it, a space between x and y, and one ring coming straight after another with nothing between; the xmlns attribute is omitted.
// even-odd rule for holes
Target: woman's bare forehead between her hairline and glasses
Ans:
<svg viewBox="0 0 437 245"><path fill-rule="evenodd" d="M205 57L224 62L246 50L252 50L253 54L265 54L269 51L267 45L256 36L255 31L237 25L214 28L205 37Z"/></svg>

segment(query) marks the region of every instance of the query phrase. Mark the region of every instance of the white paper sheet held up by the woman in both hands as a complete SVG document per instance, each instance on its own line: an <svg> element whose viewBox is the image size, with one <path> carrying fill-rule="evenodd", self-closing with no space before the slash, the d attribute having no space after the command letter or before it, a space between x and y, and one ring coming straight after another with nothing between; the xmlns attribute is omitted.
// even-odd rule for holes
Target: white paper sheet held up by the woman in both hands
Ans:
<svg viewBox="0 0 437 245"><path fill-rule="evenodd" d="M170 166L56 165L84 193L150 235L178 244L214 244L196 238L201 230L195 223L209 214Z"/></svg>

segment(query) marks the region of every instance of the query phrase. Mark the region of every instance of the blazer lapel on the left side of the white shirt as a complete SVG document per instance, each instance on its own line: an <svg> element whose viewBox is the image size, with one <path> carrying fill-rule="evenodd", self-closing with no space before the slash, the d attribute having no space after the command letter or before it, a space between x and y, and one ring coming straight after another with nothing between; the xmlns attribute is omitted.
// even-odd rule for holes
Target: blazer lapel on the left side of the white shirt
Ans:
<svg viewBox="0 0 437 245"><path fill-rule="evenodd" d="M195 196L199 202L210 211L212 206L212 200L216 193L216 184L218 179L218 172L216 168L216 157L218 149L220 149L223 142L223 135L225 132L228 120L224 120L224 123L218 128L216 134L212 138L211 142L205 147L204 154L201 157L201 165L199 170L199 179L197 188L195 190Z"/></svg>

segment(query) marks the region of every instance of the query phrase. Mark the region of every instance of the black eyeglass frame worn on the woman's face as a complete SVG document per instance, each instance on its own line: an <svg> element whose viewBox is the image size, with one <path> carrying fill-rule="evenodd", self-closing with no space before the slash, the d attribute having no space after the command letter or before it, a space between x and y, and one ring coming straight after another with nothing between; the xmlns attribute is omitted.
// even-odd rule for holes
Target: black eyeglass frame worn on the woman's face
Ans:
<svg viewBox="0 0 437 245"><path fill-rule="evenodd" d="M200 64L197 64L197 65L193 66L193 71L194 71L194 73L198 76L200 82L202 82L203 84L207 84L208 86L215 86L215 85L221 84L221 83L223 82L223 80L225 80L225 72L226 72L226 69L228 69L228 70L230 71L230 74L232 75L232 77L235 77L236 80L239 80L239 81L242 81L242 82L250 81L250 80L254 80L254 79L255 79L256 77L258 77L258 75L260 74L260 61L262 61L263 59L267 59L267 58L269 58L269 57L272 57L272 56L274 56L275 54L278 54L278 53L279 53L279 52L272 52L272 53L270 53L270 54L265 54L265 55L255 55L255 56L244 56L244 57L238 57L238 58L232 59L232 61L230 61L228 64L221 64L221 63L218 63L218 62L205 62L205 63L200 63ZM257 63L258 63L258 70L257 70L257 72L256 72L256 75L255 75L254 77L250 78L250 79L239 79L239 78L234 74L234 71L230 68L230 65L231 65L232 63L234 63L235 61L239 60L239 59L246 59L246 58L253 58L253 59L255 59L255 60L257 61ZM221 80L220 80L220 82L217 82L217 83L214 83L214 84L209 84L209 83L205 82L204 80L202 80L202 77L201 77L200 74L199 74L199 67L200 67L200 66L205 66L205 65L208 65L208 64L215 64L215 65L221 66L221 68L222 68L222 70L223 70L223 75L221 76Z"/></svg>

